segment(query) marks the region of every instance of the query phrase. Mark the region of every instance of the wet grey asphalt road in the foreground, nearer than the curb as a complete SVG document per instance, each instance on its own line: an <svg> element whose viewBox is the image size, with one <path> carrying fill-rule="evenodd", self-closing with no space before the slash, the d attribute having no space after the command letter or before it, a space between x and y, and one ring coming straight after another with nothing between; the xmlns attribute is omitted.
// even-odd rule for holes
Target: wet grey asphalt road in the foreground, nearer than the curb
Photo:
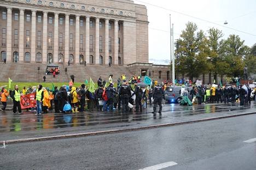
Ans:
<svg viewBox="0 0 256 170"><path fill-rule="evenodd" d="M256 115L0 149L0 169L256 169Z"/></svg>

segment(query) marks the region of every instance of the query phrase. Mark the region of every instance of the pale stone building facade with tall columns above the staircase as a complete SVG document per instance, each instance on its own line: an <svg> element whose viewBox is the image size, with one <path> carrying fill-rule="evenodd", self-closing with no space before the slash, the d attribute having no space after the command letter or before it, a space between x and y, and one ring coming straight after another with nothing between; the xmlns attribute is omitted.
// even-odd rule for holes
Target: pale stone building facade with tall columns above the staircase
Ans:
<svg viewBox="0 0 256 170"><path fill-rule="evenodd" d="M130 0L0 1L1 60L148 63L148 16Z"/></svg>

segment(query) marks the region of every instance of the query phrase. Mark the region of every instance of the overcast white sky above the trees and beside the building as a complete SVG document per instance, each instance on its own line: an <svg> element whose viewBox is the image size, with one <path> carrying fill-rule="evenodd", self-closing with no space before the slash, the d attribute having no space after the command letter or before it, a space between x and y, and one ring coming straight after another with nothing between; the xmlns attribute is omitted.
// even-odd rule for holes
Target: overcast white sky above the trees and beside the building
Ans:
<svg viewBox="0 0 256 170"><path fill-rule="evenodd" d="M134 0L144 4L148 9L149 20L149 59L170 59L170 18L174 23L174 39L178 39L188 21L195 22L199 29L206 31L216 27L223 31L224 38L230 34L239 35L245 44L252 46L256 43L256 1L255 0ZM144 3L143 3L144 2ZM149 4L148 4L149 3ZM237 29L253 35L248 35L232 29L201 21L193 17L218 23L219 25ZM224 25L224 21L228 25ZM158 30L160 29L160 30Z"/></svg>

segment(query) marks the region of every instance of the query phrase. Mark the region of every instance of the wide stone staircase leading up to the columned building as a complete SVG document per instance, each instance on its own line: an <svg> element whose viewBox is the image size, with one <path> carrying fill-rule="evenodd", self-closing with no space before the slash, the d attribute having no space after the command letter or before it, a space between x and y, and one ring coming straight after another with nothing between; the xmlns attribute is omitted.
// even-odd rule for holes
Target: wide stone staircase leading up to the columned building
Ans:
<svg viewBox="0 0 256 170"><path fill-rule="evenodd" d="M86 79L89 81L90 77L94 82L97 82L98 77L102 80L108 81L108 76L113 74L113 80L117 81L118 77L125 74L126 77L133 75L132 71L127 66L112 65L79 65L79 64L56 64L59 66L60 75L45 75L47 64L42 63L12 63L0 64L0 81L8 82L8 78L15 82L42 82L43 76L46 77L46 82L68 82L70 76L75 76L75 82L84 82ZM40 67L40 70L38 70ZM67 72L65 72L67 68ZM135 73L134 73L135 74Z"/></svg>

